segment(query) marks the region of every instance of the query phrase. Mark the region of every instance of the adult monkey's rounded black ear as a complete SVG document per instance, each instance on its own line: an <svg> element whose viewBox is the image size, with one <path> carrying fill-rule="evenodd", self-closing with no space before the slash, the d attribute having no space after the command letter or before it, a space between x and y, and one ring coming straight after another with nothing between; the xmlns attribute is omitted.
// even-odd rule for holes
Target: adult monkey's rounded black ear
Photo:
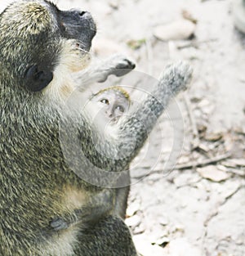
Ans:
<svg viewBox="0 0 245 256"><path fill-rule="evenodd" d="M32 65L25 73L25 87L31 92L40 92L53 79L53 73L47 70L38 70L38 65Z"/></svg>

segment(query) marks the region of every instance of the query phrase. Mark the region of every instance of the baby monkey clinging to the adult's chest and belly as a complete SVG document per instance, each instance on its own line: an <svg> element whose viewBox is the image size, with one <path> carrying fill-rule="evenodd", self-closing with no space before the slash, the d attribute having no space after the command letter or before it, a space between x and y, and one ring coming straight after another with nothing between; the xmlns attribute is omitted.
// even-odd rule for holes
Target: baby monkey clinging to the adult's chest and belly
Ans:
<svg viewBox="0 0 245 256"><path fill-rule="evenodd" d="M112 128L114 124L118 123L118 120L122 117L122 115L127 113L130 104L131 100L128 92L119 86L113 86L92 94L90 101L86 106L86 111L89 112L90 115L91 113L94 113L94 115L97 115L98 119L102 119L105 124L109 124L109 128ZM118 187L109 193L109 195L113 194L113 198L116 198L115 202L113 203L110 200L105 200L107 195L105 193L101 193L99 196L96 196L91 200L91 204L98 205L98 208L95 210L96 213L90 212L90 216L91 214L93 216L100 216L101 208L109 209L109 204L114 204L114 213L120 216L122 219L125 218L127 209L127 197L130 190L129 173L120 178L127 183L127 186ZM103 197L103 200L101 200L101 196ZM103 206L100 205L101 202L103 202ZM107 204L105 202L107 202ZM84 218L84 215L87 214L87 209L78 209L78 216L81 215L81 213L83 215L82 217ZM50 224L54 230L60 231L67 229L73 225L74 222L79 222L79 219L70 219L69 222L67 222L64 219L57 217L53 219Z"/></svg>

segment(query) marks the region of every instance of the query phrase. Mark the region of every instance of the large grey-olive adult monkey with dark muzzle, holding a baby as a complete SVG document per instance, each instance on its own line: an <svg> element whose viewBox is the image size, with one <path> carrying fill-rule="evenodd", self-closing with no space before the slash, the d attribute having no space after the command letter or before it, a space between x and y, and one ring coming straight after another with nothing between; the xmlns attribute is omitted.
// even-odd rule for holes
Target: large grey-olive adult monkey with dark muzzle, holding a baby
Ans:
<svg viewBox="0 0 245 256"><path fill-rule="evenodd" d="M136 255L114 213L113 193L83 181L66 163L60 118L78 129L79 150L87 157L79 168L122 171L191 71L182 63L169 66L140 109L120 122L117 138L103 137L85 115L70 115L65 101L74 89L126 74L134 65L114 57L85 71L95 34L89 13L60 11L45 0L13 2L0 16L0 255ZM105 151L118 157L105 157ZM51 227L57 217L69 225Z"/></svg>

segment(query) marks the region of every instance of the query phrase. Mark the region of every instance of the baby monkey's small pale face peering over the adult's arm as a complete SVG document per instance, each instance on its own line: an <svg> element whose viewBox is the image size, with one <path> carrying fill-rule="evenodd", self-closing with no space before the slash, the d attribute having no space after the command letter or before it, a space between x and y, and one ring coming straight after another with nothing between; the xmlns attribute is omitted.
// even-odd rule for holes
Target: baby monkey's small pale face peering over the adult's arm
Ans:
<svg viewBox="0 0 245 256"><path fill-rule="evenodd" d="M106 121L116 123L128 110L130 101L122 92L115 89L98 92L91 101L105 115Z"/></svg>

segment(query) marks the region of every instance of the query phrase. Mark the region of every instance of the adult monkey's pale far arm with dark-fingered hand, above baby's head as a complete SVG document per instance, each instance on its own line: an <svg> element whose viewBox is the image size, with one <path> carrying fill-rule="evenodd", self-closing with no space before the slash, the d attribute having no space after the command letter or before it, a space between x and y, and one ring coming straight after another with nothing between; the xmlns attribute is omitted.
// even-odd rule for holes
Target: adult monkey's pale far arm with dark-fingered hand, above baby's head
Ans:
<svg viewBox="0 0 245 256"><path fill-rule="evenodd" d="M115 55L109 59L100 62L98 65L88 68L87 70L78 72L74 79L79 81L79 85L83 88L87 87L91 83L102 83L109 77L109 75L114 74L118 77L129 73L133 70L136 65L127 59L126 56Z"/></svg>

